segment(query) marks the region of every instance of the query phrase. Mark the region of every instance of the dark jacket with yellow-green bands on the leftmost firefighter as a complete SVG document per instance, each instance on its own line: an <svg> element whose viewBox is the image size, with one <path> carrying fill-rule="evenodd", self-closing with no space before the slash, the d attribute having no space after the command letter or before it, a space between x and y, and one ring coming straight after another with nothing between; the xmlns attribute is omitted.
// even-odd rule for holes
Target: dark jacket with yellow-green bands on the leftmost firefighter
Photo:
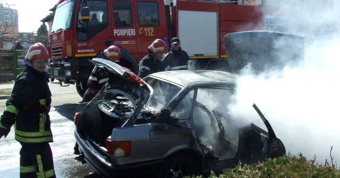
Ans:
<svg viewBox="0 0 340 178"><path fill-rule="evenodd" d="M47 73L27 67L18 74L11 96L0 119L0 127L10 130L20 143L53 142L49 111L51 91Z"/></svg>

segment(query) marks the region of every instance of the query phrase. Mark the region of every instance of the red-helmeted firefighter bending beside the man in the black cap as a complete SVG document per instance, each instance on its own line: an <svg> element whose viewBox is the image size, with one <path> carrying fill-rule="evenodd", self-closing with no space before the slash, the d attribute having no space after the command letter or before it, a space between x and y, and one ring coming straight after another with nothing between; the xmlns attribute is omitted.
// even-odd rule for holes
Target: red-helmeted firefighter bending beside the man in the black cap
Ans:
<svg viewBox="0 0 340 178"><path fill-rule="evenodd" d="M156 72L168 71L170 69L164 56L167 53L167 45L163 40L157 39L149 46L149 54L139 62L140 78Z"/></svg>

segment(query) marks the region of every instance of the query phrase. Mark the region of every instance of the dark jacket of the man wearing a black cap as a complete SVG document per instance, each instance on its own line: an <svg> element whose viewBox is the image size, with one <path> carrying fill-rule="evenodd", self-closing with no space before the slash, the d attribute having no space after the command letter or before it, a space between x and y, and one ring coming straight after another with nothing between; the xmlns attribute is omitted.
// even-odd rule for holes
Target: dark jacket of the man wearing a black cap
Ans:
<svg viewBox="0 0 340 178"><path fill-rule="evenodd" d="M181 47L178 50L174 50L171 47L171 51L165 55L165 60L167 60L171 71L186 70L189 56L185 50L182 50Z"/></svg>

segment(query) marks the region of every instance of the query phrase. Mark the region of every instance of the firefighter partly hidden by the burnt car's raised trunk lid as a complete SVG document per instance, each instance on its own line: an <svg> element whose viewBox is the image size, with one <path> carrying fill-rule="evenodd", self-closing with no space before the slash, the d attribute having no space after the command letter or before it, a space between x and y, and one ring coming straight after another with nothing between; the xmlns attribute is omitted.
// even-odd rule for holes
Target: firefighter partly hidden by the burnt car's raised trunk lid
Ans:
<svg viewBox="0 0 340 178"><path fill-rule="evenodd" d="M120 59L119 47L111 45L107 49L102 50L103 59L117 62ZM94 96L102 89L105 82L108 80L108 72L104 67L95 66L92 70L90 77L87 80L87 87L84 96L83 103L91 101Z"/></svg>

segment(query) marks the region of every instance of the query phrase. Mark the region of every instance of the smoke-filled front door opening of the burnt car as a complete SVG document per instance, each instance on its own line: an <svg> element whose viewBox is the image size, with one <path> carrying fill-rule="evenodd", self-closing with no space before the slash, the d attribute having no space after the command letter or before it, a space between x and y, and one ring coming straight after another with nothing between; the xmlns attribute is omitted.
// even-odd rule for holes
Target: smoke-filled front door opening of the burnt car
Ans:
<svg viewBox="0 0 340 178"><path fill-rule="evenodd" d="M238 149L238 122L228 115L230 89L198 89L193 112L195 135L224 159L234 158Z"/></svg>

